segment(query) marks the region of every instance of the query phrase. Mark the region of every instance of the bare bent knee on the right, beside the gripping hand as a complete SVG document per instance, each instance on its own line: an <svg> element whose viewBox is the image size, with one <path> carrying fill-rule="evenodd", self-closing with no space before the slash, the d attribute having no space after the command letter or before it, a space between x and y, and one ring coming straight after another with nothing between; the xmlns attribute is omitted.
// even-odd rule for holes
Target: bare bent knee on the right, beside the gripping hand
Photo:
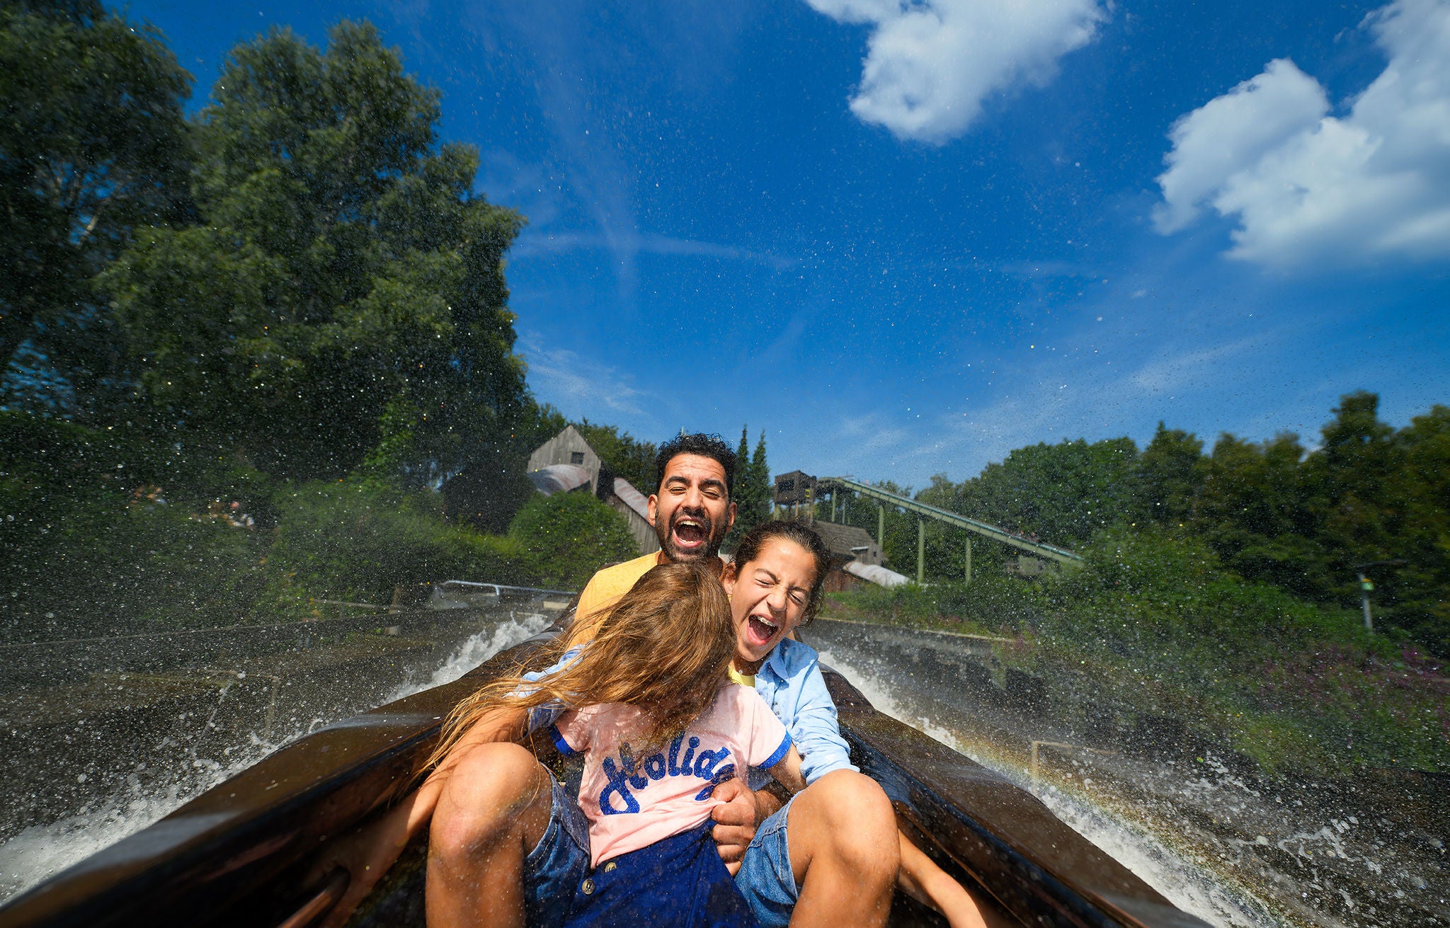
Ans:
<svg viewBox="0 0 1450 928"><path fill-rule="evenodd" d="M896 816L874 780L825 774L790 805L786 840L800 898L790 924L883 925L900 866Z"/></svg>

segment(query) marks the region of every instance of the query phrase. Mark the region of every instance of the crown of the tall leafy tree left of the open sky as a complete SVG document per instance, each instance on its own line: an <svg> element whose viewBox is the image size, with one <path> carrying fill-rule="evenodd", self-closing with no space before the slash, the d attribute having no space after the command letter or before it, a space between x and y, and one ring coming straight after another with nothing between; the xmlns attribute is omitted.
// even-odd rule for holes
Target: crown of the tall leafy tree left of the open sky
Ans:
<svg viewBox="0 0 1450 928"><path fill-rule="evenodd" d="M503 252L522 219L436 145L438 91L367 23L323 54L289 30L232 51L194 120L202 223L148 229L103 277L168 426L291 478L335 477L406 423L419 484L522 468L536 416Z"/></svg>

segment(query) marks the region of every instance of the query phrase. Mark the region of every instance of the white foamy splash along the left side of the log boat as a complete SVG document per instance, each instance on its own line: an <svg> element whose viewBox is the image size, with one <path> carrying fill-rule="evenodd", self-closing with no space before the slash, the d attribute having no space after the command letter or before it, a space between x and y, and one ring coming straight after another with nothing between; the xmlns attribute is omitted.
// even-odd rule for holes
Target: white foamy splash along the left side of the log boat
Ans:
<svg viewBox="0 0 1450 928"><path fill-rule="evenodd" d="M426 679L405 682L374 705L384 705L425 689L451 683L499 651L548 628L550 619L536 613L509 613L492 628L464 641ZM306 728L284 737L261 741L255 735L246 745L233 747L225 764L199 758L161 780L142 783L129 777L119 792L87 802L75 815L45 825L32 825L0 844L0 902L80 863L116 841L141 831L178 809L193 798L267 757L278 747L322 726L328 719L313 719Z"/></svg>

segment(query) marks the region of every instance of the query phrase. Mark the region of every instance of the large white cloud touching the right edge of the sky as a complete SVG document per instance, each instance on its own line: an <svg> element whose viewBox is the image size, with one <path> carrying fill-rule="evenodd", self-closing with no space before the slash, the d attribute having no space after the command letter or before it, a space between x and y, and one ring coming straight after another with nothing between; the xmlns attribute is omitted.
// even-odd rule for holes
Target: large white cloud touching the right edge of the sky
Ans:
<svg viewBox="0 0 1450 928"><path fill-rule="evenodd" d="M1344 116L1279 59L1174 123L1160 232L1206 204L1237 219L1228 254L1264 265L1450 257L1450 3L1364 25L1389 61Z"/></svg>

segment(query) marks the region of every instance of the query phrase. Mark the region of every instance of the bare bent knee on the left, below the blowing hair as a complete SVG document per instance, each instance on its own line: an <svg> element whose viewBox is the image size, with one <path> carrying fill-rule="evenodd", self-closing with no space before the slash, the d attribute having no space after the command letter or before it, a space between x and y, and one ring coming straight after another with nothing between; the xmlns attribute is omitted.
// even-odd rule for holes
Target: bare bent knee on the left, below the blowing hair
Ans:
<svg viewBox="0 0 1450 928"><path fill-rule="evenodd" d="M444 782L428 847L428 924L523 925L523 858L548 828L551 780L523 747L481 744Z"/></svg>

